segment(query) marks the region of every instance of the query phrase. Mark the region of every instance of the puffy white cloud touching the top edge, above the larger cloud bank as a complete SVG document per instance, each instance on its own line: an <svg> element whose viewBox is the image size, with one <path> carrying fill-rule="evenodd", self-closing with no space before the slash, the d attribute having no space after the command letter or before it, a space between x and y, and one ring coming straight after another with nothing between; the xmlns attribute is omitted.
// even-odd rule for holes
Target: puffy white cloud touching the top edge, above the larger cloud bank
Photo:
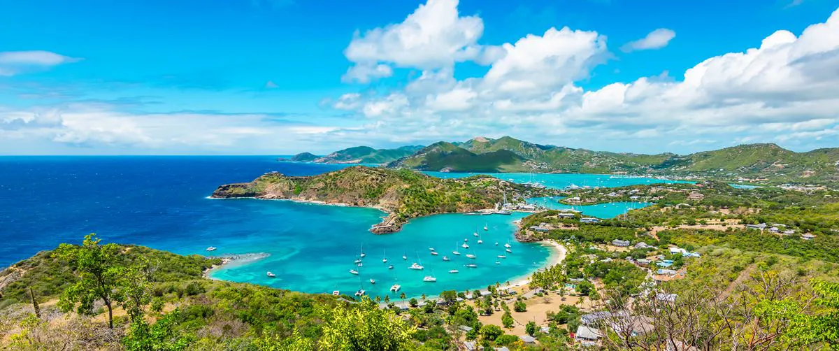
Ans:
<svg viewBox="0 0 839 351"><path fill-rule="evenodd" d="M457 0L429 0L400 24L356 33L344 51L354 64L347 81L366 82L390 76L390 66L438 69L465 60L490 62L497 49L477 45L483 21L457 12Z"/></svg>

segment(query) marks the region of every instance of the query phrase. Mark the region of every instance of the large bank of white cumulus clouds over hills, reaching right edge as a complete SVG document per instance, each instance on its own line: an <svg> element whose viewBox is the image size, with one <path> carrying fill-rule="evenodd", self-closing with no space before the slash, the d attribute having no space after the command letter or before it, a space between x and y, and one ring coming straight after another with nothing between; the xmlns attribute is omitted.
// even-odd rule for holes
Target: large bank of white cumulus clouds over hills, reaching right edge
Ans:
<svg viewBox="0 0 839 351"><path fill-rule="evenodd" d="M656 30L631 48L661 47L673 35ZM352 108L341 107L371 121L354 133L387 140L514 134L571 146L612 139L636 141L630 146L664 141L706 148L761 140L804 147L834 135L839 10L800 35L779 30L756 44L703 60L682 75L586 90L578 81L604 62L606 37L548 29L497 46L503 55L484 76L457 80L451 66L424 69L401 89L354 96ZM458 60L456 52L444 54L449 59L440 61Z"/></svg>

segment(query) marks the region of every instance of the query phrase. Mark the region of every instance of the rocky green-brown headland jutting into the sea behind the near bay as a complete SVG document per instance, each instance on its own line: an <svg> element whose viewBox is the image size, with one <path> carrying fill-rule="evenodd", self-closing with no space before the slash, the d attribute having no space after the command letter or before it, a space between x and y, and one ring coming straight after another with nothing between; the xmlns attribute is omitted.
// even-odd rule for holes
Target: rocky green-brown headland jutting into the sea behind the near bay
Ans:
<svg viewBox="0 0 839 351"><path fill-rule="evenodd" d="M514 201L550 191L487 175L440 179L411 170L354 166L312 176L268 173L249 183L219 186L212 197L255 197L373 207L389 215L370 230L394 233L411 218L492 209L503 202L505 196Z"/></svg>

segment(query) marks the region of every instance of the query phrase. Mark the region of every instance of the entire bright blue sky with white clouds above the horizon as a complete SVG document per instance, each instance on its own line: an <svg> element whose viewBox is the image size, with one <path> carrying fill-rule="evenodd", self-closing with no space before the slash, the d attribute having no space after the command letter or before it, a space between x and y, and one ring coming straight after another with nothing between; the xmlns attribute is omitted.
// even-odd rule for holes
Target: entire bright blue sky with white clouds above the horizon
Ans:
<svg viewBox="0 0 839 351"><path fill-rule="evenodd" d="M0 4L0 155L839 147L839 0Z"/></svg>

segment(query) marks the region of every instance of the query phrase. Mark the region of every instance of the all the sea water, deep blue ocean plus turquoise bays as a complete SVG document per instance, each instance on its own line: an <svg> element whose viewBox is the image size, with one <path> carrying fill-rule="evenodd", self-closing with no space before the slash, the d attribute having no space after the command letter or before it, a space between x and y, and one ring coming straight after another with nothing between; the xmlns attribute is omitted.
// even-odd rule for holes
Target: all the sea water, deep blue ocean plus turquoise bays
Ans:
<svg viewBox="0 0 839 351"><path fill-rule="evenodd" d="M422 217L399 233L374 235L367 229L383 216L374 209L207 198L216 186L252 181L268 171L315 175L342 167L278 162L274 156L0 157L0 267L97 233L107 243L142 244L177 254L210 254L205 250L210 246L218 248L214 255L268 254L216 270L211 275L216 279L305 292L352 294L363 287L373 296L388 295L396 282L408 296L420 296L503 284L529 275L550 259L545 247L513 240L513 221L524 217L520 213ZM519 176L524 175L501 175ZM537 176L547 186L659 181L608 175ZM610 213L601 215L610 217ZM476 232L483 244L477 244ZM470 249L457 246L464 239ZM506 243L513 252L499 259ZM367 257L357 267L353 261L362 248ZM429 248L440 254L431 255ZM461 255L452 254L455 249ZM466 259L466 254L477 258ZM451 261L443 261L443 255ZM425 270L409 270L414 262ZM469 262L478 267L466 268ZM360 274L350 274L351 269ZM448 273L453 269L459 273ZM277 277L269 278L267 271ZM426 275L437 281L424 282Z"/></svg>

